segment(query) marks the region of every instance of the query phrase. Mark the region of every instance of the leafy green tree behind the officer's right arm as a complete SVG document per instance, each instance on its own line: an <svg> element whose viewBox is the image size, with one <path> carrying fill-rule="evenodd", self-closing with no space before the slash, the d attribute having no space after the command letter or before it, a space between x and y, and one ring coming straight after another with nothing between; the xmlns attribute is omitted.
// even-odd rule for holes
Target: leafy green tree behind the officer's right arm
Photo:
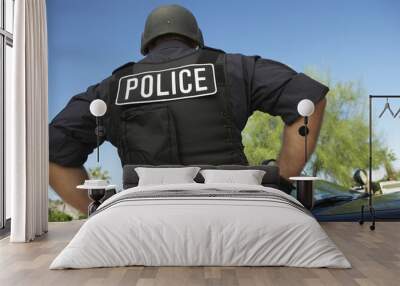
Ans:
<svg viewBox="0 0 400 286"><path fill-rule="evenodd" d="M353 183L355 169L368 168L367 97L354 82L339 82L332 86L327 79L319 80L331 88L318 145L305 169L314 176L349 186ZM260 112L253 114L243 130L245 153L251 164L278 156L282 130L283 123L279 118ZM393 175L395 157L382 136L373 134L373 146L373 168L384 165Z"/></svg>

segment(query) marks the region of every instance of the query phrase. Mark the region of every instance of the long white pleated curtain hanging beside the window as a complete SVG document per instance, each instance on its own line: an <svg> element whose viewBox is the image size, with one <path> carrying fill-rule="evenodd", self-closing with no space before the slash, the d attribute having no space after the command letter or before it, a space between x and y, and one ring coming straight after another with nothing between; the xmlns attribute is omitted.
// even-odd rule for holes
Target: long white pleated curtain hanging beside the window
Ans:
<svg viewBox="0 0 400 286"><path fill-rule="evenodd" d="M12 242L47 232L48 112L45 0L15 1L13 93L6 99Z"/></svg>

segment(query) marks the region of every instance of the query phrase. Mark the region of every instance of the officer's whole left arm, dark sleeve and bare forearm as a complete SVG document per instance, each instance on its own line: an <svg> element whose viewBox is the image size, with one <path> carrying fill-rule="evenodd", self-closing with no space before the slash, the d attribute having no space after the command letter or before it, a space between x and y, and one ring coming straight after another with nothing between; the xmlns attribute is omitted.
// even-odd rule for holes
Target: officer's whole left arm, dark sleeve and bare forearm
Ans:
<svg viewBox="0 0 400 286"><path fill-rule="evenodd" d="M85 213L89 199L76 186L87 179L83 164L97 145L96 121L89 105L96 98L105 99L104 88L94 85L74 96L49 126L50 186L66 203Z"/></svg>

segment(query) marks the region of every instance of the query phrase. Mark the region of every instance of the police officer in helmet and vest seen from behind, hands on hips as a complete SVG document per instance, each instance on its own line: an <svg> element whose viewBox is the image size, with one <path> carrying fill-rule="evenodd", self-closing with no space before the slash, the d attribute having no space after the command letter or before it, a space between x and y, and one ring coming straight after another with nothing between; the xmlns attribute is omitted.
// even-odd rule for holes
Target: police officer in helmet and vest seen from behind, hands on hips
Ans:
<svg viewBox="0 0 400 286"><path fill-rule="evenodd" d="M96 147L92 100L107 103L104 140L122 164L247 164L241 131L256 110L285 123L278 158L281 175L304 166L297 104L310 99L309 150L317 141L328 88L288 66L259 56L227 54L204 46L190 11L161 6L148 16L138 63L127 63L74 96L50 123L50 184L69 204L86 211L88 199L71 192L87 174Z"/></svg>

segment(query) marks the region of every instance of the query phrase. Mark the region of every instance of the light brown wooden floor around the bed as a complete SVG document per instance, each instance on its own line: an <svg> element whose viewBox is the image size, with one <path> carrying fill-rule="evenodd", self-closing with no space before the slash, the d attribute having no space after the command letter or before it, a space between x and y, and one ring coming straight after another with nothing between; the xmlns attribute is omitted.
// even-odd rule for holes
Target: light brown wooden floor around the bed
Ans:
<svg viewBox="0 0 400 286"><path fill-rule="evenodd" d="M81 222L50 223L28 244L0 241L0 285L400 285L400 222L379 222L372 232L357 223L323 223L352 269L289 267L121 267L48 270Z"/></svg>

